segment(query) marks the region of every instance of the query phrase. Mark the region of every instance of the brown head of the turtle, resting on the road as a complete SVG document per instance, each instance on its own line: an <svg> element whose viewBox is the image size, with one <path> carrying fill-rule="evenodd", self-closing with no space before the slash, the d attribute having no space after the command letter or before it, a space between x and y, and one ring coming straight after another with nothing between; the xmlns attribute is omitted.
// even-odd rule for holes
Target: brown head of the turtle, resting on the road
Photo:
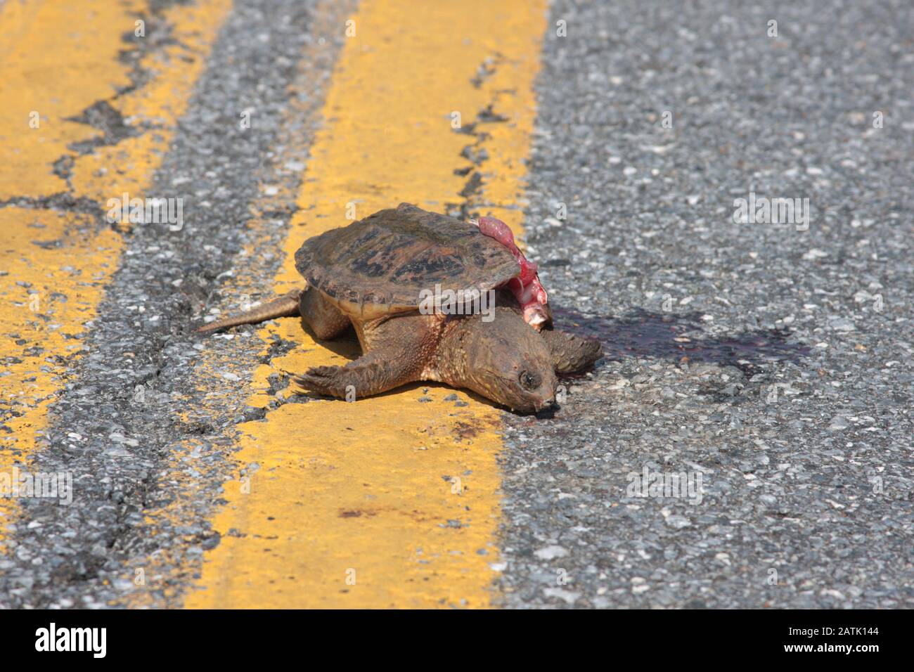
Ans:
<svg viewBox="0 0 914 672"><path fill-rule="evenodd" d="M472 389L512 411L535 413L553 405L558 379L546 341L515 311L498 307L494 319L462 318L441 343L445 380Z"/></svg>

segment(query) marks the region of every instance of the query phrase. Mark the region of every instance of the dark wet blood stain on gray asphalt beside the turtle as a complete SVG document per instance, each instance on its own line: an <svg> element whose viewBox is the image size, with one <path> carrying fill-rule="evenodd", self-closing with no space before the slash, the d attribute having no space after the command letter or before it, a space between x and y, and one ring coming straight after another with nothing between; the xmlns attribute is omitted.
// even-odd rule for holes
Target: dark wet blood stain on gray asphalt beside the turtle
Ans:
<svg viewBox="0 0 914 672"><path fill-rule="evenodd" d="M762 329L734 336L705 335L701 314L652 313L641 308L620 317L583 315L568 308L553 308L559 328L580 336L598 338L603 357L659 358L707 362L739 368L747 377L760 373L766 362L797 363L810 347L792 342L790 332ZM696 334L696 332L698 332Z"/></svg>

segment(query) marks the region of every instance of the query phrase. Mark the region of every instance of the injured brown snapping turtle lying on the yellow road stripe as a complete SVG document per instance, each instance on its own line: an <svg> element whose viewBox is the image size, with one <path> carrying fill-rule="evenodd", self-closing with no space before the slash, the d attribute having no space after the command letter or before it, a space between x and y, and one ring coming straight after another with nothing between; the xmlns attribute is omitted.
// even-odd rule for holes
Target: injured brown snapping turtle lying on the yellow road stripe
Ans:
<svg viewBox="0 0 914 672"><path fill-rule="evenodd" d="M330 339L353 325L362 357L311 368L299 385L345 398L438 380L540 411L554 403L556 373L590 367L602 347L552 328L538 279L529 291L536 265L505 231L497 219L468 223L408 203L380 210L305 240L295 253L304 290L197 331L301 315Z"/></svg>

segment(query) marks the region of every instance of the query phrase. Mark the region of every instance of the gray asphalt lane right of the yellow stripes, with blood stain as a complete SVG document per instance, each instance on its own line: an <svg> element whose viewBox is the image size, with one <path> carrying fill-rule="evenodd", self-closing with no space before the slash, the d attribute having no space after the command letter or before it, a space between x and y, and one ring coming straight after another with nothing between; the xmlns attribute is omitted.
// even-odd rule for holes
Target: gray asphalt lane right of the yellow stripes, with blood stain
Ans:
<svg viewBox="0 0 914 672"><path fill-rule="evenodd" d="M560 19L526 226L608 357L510 421L505 605L914 606L911 5ZM750 191L808 197L808 230L735 223ZM637 496L645 468L704 496Z"/></svg>

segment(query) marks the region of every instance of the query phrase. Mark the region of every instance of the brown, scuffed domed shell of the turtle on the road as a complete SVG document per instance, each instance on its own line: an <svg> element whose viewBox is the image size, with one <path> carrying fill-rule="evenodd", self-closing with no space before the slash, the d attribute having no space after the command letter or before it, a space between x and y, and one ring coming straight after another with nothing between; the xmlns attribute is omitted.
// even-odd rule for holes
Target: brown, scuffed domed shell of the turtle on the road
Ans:
<svg viewBox="0 0 914 672"><path fill-rule="evenodd" d="M473 224L409 203L305 240L295 268L361 319L416 310L436 284L484 292L520 272L511 252Z"/></svg>

